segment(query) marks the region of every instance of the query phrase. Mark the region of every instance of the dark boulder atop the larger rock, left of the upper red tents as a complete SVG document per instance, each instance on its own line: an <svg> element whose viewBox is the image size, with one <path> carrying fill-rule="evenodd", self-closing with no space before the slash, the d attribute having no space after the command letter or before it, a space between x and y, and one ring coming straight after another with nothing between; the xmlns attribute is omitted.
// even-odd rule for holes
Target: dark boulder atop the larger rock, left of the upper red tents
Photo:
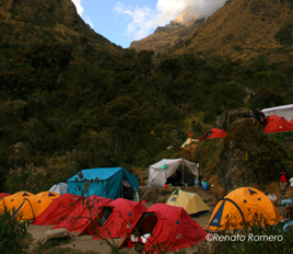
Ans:
<svg viewBox="0 0 293 254"><path fill-rule="evenodd" d="M228 131L241 119L251 118L253 112L249 108L243 107L233 111L225 111L216 119L215 127Z"/></svg>

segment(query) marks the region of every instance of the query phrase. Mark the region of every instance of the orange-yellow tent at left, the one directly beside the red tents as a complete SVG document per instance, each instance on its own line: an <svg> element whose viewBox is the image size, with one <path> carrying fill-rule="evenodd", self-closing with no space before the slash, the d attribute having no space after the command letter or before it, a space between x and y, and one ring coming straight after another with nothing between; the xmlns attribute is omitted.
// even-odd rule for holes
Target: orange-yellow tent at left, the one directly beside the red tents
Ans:
<svg viewBox="0 0 293 254"><path fill-rule="evenodd" d="M15 210L15 218L34 220L59 196L58 193L43 192L35 196L27 197Z"/></svg>

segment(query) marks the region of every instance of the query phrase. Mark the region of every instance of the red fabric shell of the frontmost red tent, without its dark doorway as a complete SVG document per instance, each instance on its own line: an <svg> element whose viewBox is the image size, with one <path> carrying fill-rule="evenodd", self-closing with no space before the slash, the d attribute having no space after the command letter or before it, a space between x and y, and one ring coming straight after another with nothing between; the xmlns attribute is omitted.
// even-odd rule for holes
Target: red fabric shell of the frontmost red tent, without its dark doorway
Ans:
<svg viewBox="0 0 293 254"><path fill-rule="evenodd" d="M153 212L157 223L143 246L144 253L172 252L190 247L206 240L207 232L181 207L155 204L145 212ZM136 226L138 224L137 221ZM136 226L129 234L136 229ZM119 247L127 244L128 238Z"/></svg>

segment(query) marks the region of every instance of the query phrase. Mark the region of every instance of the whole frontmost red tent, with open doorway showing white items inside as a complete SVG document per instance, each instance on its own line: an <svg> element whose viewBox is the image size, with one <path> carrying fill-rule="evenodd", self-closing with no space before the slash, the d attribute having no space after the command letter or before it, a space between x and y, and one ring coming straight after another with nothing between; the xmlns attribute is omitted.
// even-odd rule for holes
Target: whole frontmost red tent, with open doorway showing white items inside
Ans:
<svg viewBox="0 0 293 254"><path fill-rule="evenodd" d="M184 208L159 203L142 213L119 247L133 247L145 242L144 252L172 252L190 247L206 240L206 235L207 232Z"/></svg>

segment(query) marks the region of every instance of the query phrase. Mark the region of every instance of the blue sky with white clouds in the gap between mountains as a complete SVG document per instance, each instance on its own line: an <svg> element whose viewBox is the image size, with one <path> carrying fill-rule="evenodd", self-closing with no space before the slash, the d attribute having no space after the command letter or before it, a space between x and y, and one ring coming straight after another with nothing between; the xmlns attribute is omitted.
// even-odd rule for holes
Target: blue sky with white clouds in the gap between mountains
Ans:
<svg viewBox="0 0 293 254"><path fill-rule="evenodd" d="M96 33L124 48L168 24L188 5L211 15L225 0L72 0Z"/></svg>

